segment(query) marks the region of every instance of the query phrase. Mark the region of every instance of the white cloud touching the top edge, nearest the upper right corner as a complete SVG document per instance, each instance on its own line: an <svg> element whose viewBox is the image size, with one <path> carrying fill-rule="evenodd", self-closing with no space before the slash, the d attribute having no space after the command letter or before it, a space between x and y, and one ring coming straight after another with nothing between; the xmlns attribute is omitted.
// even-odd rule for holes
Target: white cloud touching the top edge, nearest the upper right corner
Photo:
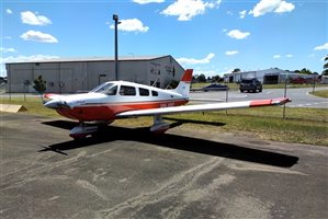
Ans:
<svg viewBox="0 0 328 219"><path fill-rule="evenodd" d="M269 12L284 13L295 9L293 3L282 0L261 0L249 13L253 16L261 16Z"/></svg>

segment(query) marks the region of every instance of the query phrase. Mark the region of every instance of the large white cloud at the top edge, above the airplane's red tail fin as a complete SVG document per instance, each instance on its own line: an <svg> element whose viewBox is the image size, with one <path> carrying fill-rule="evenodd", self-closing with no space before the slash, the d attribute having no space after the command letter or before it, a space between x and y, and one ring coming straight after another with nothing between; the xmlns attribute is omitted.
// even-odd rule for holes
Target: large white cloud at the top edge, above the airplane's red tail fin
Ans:
<svg viewBox="0 0 328 219"><path fill-rule="evenodd" d="M165 9L161 14L178 16L178 21L190 21L199 14L204 14L207 8L213 9L218 7L219 3L220 0L211 2L204 2L203 0L177 0Z"/></svg>

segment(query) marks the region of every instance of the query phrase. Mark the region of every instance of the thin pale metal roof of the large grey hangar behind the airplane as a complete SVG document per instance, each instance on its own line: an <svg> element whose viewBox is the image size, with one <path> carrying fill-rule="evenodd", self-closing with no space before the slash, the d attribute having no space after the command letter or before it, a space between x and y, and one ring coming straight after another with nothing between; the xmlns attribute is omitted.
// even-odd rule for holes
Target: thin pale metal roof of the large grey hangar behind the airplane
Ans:
<svg viewBox="0 0 328 219"><path fill-rule="evenodd" d="M166 56L122 56L118 61L147 61L159 59ZM80 58L52 58L52 59L33 59L30 61L12 61L7 64L35 64L35 62L81 62L81 61L114 61L114 57L80 57Z"/></svg>

